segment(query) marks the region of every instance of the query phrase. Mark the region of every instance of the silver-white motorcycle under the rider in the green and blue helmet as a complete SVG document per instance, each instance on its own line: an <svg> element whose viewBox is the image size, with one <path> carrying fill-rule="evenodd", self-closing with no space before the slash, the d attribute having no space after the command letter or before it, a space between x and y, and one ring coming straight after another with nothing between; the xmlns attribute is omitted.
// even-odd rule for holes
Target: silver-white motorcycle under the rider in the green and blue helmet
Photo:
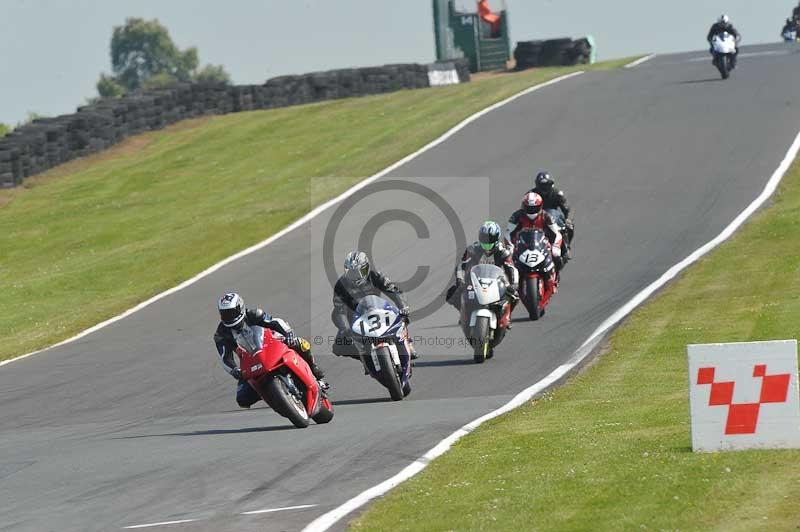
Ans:
<svg viewBox="0 0 800 532"><path fill-rule="evenodd" d="M505 272L494 264L477 264L469 271L469 282L461 293L461 328L476 364L492 358L505 336L511 320L507 288Z"/></svg>

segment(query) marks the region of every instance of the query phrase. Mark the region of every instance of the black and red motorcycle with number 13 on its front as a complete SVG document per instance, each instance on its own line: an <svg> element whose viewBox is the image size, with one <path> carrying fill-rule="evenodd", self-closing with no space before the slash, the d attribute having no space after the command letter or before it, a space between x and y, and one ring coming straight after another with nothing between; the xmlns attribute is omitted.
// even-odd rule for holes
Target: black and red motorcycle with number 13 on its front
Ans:
<svg viewBox="0 0 800 532"><path fill-rule="evenodd" d="M536 321L544 315L556 291L556 269L550 242L539 229L521 231L514 242L514 265L519 270L519 297Z"/></svg>

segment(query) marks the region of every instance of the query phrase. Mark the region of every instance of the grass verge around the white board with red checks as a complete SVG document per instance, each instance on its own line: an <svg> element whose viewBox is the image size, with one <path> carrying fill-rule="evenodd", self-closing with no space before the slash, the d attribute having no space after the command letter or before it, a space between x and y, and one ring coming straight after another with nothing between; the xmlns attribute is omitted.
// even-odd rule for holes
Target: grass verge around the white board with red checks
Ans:
<svg viewBox="0 0 800 532"><path fill-rule="evenodd" d="M368 530L798 530L800 451L691 451L686 345L800 336L800 165L567 386L487 422Z"/></svg>

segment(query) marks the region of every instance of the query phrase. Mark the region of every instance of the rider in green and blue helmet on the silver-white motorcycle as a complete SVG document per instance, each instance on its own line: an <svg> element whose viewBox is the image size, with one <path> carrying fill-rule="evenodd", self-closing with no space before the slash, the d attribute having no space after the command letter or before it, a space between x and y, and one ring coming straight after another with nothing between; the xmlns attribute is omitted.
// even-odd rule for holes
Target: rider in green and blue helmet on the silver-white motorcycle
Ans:
<svg viewBox="0 0 800 532"><path fill-rule="evenodd" d="M478 229L478 241L464 251L461 262L456 266L456 284L447 290L447 301L457 309L461 309L461 292L464 291L465 277L469 270L478 264L494 264L503 268L509 282L506 298L511 303L512 311L517 306L519 272L514 266L512 248L502 242L502 233L497 222L486 221ZM511 328L510 324L508 328Z"/></svg>

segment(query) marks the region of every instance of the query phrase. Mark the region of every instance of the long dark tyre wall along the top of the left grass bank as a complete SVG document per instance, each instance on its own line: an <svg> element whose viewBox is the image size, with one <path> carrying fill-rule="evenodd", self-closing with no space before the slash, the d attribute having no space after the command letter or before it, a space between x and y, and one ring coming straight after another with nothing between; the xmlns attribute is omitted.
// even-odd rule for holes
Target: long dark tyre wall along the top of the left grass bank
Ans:
<svg viewBox="0 0 800 532"><path fill-rule="evenodd" d="M79 107L41 118L0 138L0 188L125 138L187 118L465 83L466 59L431 65L398 64L281 76L263 85L179 84Z"/></svg>

